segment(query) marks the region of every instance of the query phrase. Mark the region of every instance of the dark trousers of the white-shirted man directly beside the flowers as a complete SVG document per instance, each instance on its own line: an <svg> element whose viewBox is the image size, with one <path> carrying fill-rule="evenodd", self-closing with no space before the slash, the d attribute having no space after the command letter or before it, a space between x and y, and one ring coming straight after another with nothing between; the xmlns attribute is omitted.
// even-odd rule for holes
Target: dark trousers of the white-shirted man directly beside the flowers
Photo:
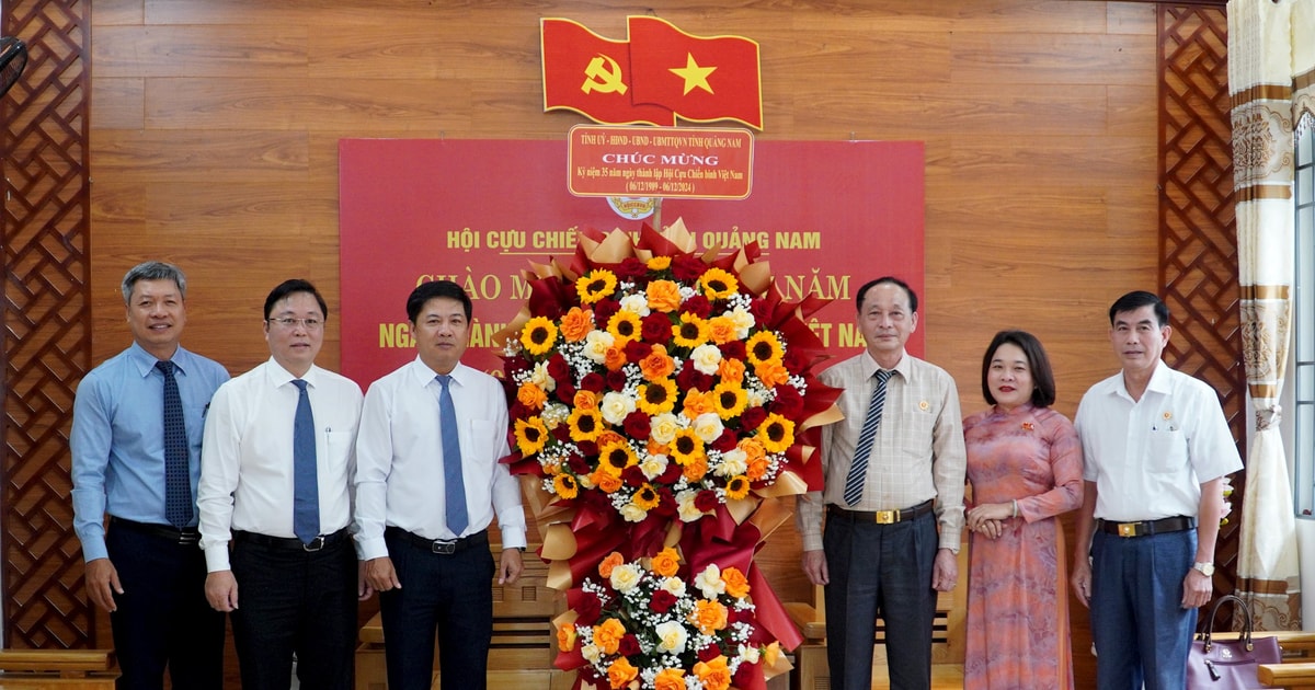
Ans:
<svg viewBox="0 0 1315 690"><path fill-rule="evenodd" d="M484 690L493 639L493 555L488 544L431 553L389 530L401 589L379 594L389 690L429 690L438 632L443 687Z"/></svg>

